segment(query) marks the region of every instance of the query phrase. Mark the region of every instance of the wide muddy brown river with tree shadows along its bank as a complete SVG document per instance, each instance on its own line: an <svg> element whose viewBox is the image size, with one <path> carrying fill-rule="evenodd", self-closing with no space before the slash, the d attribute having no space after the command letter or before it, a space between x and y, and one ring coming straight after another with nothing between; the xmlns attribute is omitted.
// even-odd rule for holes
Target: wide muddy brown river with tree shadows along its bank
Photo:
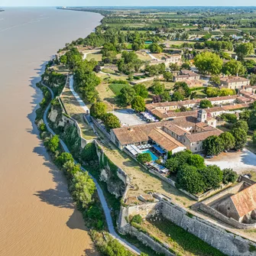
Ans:
<svg viewBox="0 0 256 256"><path fill-rule="evenodd" d="M65 179L38 138L42 66L102 16L55 8L0 13L0 255L97 255Z"/></svg>

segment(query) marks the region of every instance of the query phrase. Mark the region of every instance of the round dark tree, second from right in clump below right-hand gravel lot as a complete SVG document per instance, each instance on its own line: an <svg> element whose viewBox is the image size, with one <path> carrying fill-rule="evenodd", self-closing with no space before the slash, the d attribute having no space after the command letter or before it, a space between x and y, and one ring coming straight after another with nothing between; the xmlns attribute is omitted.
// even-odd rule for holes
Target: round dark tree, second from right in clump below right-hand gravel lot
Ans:
<svg viewBox="0 0 256 256"><path fill-rule="evenodd" d="M223 173L216 165L209 165L199 170L203 177L206 190L218 189L223 180Z"/></svg>

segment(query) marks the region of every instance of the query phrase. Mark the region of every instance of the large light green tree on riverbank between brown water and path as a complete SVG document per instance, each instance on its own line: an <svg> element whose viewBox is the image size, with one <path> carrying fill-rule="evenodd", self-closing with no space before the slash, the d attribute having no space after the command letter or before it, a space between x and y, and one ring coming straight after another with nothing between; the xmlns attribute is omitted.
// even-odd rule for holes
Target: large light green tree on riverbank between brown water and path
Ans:
<svg viewBox="0 0 256 256"><path fill-rule="evenodd" d="M83 208L92 202L92 195L96 191L96 185L88 172L78 172L75 174L70 186L72 196L76 202L81 203Z"/></svg>

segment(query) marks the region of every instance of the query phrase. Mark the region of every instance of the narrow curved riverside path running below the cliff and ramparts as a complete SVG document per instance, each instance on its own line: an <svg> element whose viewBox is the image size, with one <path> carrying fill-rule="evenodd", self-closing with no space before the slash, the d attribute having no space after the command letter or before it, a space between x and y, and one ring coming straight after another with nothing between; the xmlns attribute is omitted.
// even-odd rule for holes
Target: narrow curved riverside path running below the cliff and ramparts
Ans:
<svg viewBox="0 0 256 256"><path fill-rule="evenodd" d="M50 94L52 99L54 98L53 95L53 91L46 85L44 85L44 83L42 83L43 86L47 87L47 89L49 89ZM50 131L51 134L55 135L55 132L50 128L48 122L47 122L47 113L50 109L50 104L47 106L47 109L44 112L44 123L47 127L47 130ZM66 151L67 153L70 153L68 147L66 147L66 144L63 142L63 140L60 139L60 144L63 147L63 150ZM81 167L81 170L86 171L83 167ZM89 174L90 177L92 177L91 174ZM115 232L115 228L112 222L112 217L111 217L111 213L110 213L110 209L109 206L105 200L105 196L102 192L101 187L99 186L99 183L97 182L97 180L92 177L92 180L94 181L94 183L96 183L96 189L98 192L98 196L99 196L99 200L100 203L102 204L102 208L104 210L105 213L105 219L109 228L109 233L110 235L112 235L113 238L117 239L122 245L125 246L125 248L128 248L129 251L132 251L134 254L141 254L141 251L138 250L138 248L136 248L134 245L131 245L130 243L128 243L128 241L125 241L125 239L122 239L116 232Z"/></svg>

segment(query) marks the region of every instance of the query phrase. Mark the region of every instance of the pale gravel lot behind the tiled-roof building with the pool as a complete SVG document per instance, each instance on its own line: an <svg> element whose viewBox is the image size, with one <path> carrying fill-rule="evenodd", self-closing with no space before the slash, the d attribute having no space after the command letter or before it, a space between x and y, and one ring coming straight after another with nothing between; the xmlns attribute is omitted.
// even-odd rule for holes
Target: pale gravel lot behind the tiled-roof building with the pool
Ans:
<svg viewBox="0 0 256 256"><path fill-rule="evenodd" d="M110 113L119 118L122 126L143 125L147 123L145 119L142 119L132 109L118 109Z"/></svg>

